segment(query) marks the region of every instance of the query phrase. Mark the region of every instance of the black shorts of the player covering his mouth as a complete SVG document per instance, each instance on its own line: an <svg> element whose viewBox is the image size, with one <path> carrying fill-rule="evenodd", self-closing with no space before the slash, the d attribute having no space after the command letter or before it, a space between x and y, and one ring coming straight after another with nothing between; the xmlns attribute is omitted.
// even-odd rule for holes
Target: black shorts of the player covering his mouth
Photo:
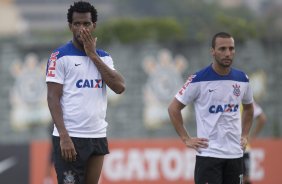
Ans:
<svg viewBox="0 0 282 184"><path fill-rule="evenodd" d="M53 158L58 184L84 184L87 160L93 155L109 153L107 138L76 138L71 137L77 152L76 161L67 162L62 158L60 138L53 136Z"/></svg>

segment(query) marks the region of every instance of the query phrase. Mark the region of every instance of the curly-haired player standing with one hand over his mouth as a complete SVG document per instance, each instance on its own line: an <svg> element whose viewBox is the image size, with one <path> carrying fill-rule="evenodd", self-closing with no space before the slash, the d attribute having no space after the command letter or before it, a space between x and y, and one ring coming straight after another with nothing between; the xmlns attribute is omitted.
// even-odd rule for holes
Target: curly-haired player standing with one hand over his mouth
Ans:
<svg viewBox="0 0 282 184"><path fill-rule="evenodd" d="M73 38L51 54L46 71L47 100L55 124L54 164L59 184L95 184L109 153L106 85L120 94L125 83L111 56L96 49L95 7L74 2L67 18Z"/></svg>

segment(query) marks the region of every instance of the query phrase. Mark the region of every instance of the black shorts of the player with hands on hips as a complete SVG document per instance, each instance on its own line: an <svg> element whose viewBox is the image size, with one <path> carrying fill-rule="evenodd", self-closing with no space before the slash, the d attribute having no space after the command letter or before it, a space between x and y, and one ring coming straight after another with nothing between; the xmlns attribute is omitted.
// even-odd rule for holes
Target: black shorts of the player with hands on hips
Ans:
<svg viewBox="0 0 282 184"><path fill-rule="evenodd" d="M196 157L195 184L241 184L243 159Z"/></svg>

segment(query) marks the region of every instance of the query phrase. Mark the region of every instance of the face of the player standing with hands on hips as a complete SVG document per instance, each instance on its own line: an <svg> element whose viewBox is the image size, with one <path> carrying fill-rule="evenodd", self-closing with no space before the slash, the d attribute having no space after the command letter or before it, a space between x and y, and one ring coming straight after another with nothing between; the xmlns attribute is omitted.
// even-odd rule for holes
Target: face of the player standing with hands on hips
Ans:
<svg viewBox="0 0 282 184"><path fill-rule="evenodd" d="M235 55L233 38L216 38L215 48L211 49L216 64L221 67L230 67Z"/></svg>

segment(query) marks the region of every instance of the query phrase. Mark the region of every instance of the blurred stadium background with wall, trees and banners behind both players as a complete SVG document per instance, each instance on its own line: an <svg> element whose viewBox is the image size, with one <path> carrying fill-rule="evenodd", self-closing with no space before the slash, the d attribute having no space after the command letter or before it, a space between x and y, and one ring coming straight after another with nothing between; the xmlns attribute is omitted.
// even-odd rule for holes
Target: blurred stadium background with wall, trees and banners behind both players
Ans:
<svg viewBox="0 0 282 184"><path fill-rule="evenodd" d="M52 49L71 39L72 2L0 1L1 184L41 184L49 176L45 66ZM166 108L188 75L211 62L210 39L219 31L237 40L234 65L249 74L268 119L253 142L251 177L282 183L280 0L90 2L98 10L98 47L112 55L127 85L121 96L109 92L111 154L101 184L193 183L195 153L178 141ZM184 113L195 135L193 108Z"/></svg>

